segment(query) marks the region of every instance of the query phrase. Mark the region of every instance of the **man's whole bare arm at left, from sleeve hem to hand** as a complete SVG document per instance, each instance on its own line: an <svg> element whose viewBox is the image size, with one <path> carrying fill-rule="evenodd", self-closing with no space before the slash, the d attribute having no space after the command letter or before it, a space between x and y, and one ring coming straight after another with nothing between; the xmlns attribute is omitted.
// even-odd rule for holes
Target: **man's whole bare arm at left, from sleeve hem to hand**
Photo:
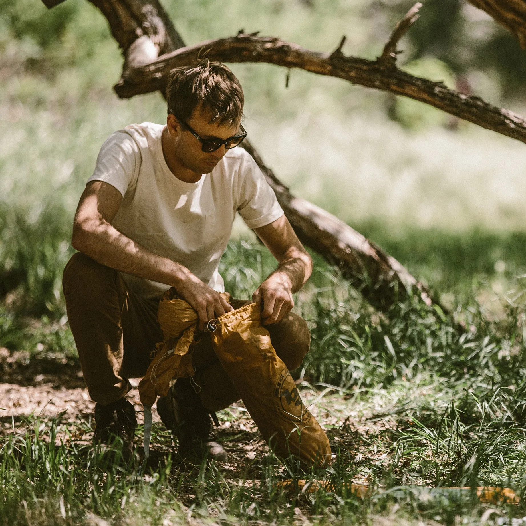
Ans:
<svg viewBox="0 0 526 526"><path fill-rule="evenodd" d="M122 200L112 185L103 181L89 183L75 214L73 248L107 267L175 287L197 311L201 328L208 320L232 310L218 292L186 267L157 256L113 227L111 222Z"/></svg>

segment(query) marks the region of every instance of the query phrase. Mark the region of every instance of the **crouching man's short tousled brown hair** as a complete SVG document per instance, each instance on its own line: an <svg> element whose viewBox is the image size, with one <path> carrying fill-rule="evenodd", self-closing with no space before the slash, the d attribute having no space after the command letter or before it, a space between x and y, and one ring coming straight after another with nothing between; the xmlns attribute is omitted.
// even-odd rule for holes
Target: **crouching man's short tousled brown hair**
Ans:
<svg viewBox="0 0 526 526"><path fill-rule="evenodd" d="M213 116L210 123L233 125L241 121L245 97L239 80L220 62L201 60L170 72L166 88L168 114L188 120L202 105Z"/></svg>

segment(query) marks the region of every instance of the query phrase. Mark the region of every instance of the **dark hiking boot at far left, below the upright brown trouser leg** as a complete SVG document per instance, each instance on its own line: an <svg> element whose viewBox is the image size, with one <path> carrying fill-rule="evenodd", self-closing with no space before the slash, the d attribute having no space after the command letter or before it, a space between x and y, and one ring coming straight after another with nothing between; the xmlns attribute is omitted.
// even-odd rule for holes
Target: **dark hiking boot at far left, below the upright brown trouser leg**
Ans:
<svg viewBox="0 0 526 526"><path fill-rule="evenodd" d="M103 406L95 404L95 434L94 444L108 444L116 438L123 441L123 458L127 462L133 457L133 438L137 419L133 405L125 398Z"/></svg>

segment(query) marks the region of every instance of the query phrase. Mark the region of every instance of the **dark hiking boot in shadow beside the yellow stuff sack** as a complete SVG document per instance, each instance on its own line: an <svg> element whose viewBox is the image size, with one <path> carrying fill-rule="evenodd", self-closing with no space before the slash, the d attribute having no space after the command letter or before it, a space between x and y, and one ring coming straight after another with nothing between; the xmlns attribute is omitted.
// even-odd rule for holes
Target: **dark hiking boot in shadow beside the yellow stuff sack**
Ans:
<svg viewBox="0 0 526 526"><path fill-rule="evenodd" d="M168 394L157 400L157 412L166 429L177 437L181 457L198 456L224 462L227 452L210 439L210 413L194 391L189 378L179 378Z"/></svg>

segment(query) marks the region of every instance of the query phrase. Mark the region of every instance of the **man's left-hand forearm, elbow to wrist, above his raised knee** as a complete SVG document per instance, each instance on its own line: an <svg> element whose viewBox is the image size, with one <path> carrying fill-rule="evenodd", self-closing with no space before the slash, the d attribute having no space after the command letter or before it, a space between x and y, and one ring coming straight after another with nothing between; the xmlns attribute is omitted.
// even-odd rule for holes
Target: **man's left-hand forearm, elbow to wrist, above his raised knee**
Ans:
<svg viewBox="0 0 526 526"><path fill-rule="evenodd" d="M183 265L153 254L105 220L86 220L75 225L72 245L102 265L170 287L177 288L191 276Z"/></svg>

